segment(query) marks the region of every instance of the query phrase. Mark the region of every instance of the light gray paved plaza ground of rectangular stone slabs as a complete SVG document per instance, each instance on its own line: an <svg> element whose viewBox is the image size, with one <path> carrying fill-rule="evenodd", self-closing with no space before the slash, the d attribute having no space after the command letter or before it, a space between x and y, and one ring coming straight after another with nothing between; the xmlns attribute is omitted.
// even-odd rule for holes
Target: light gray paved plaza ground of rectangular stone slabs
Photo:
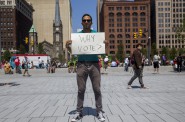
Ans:
<svg viewBox="0 0 185 122"><path fill-rule="evenodd" d="M55 74L29 71L31 77L0 70L0 122L70 122L77 102L76 74L66 68ZM138 79L133 89L127 89L131 77L123 67L109 68L102 75L106 122L185 122L185 71L161 66L154 74L152 67L145 67L143 79L149 89L140 89ZM83 113L80 122L98 122L89 79Z"/></svg>

